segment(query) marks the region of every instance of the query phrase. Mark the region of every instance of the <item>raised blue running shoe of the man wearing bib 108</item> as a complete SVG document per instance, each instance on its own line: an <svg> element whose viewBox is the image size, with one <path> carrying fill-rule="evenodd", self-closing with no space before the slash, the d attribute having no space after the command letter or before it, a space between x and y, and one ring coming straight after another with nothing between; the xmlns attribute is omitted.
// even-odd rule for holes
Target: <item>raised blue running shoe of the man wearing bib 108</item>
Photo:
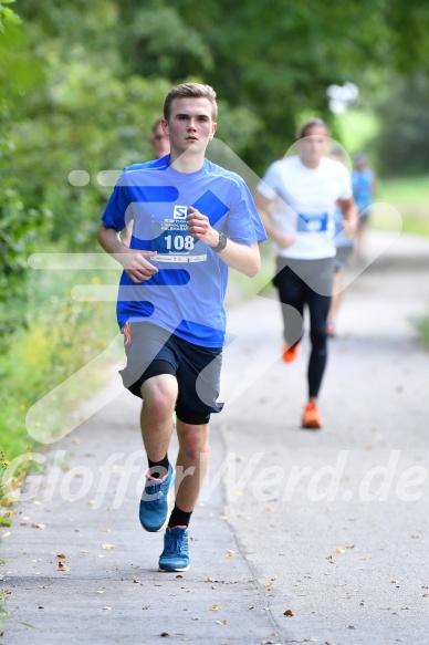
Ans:
<svg viewBox="0 0 429 645"><path fill-rule="evenodd" d="M170 465L163 479L146 475L145 490L142 493L139 518L145 531L156 533L165 529L168 516L168 493L175 482L175 469Z"/></svg>

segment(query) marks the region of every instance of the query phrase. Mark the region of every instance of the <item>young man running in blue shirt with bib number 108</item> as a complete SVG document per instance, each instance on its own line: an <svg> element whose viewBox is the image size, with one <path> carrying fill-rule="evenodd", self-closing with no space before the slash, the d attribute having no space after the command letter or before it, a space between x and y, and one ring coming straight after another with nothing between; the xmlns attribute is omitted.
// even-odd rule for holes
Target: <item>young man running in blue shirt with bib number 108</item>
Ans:
<svg viewBox="0 0 429 645"><path fill-rule="evenodd" d="M228 268L255 275L258 245L266 238L244 181L205 158L217 111L209 85L170 90L161 122L170 155L125 168L98 229L101 246L124 268L117 301L127 355L122 376L144 400L140 426L149 465L139 519L150 532L168 523L161 571L189 568L188 524L208 466L210 414L222 407L217 398ZM118 232L130 218L128 248ZM168 516L175 410L176 469L184 478L177 478Z"/></svg>

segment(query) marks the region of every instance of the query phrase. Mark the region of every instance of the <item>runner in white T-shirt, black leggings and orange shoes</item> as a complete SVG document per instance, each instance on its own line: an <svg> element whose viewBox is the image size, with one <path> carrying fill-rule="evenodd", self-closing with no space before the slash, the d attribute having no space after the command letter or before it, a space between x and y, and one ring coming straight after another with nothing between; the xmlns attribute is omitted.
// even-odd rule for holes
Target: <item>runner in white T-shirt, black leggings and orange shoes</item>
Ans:
<svg viewBox="0 0 429 645"><path fill-rule="evenodd" d="M308 400L304 428L321 428L317 397L327 358L326 319L329 310L334 261L335 204L343 210L345 228L353 235L356 206L348 170L324 155L329 139L325 123L311 118L297 133L297 155L272 164L258 184L255 202L266 232L274 241L274 285L283 304L283 360L296 358L303 334L304 306L310 310L311 354ZM300 327L290 308L301 314Z"/></svg>

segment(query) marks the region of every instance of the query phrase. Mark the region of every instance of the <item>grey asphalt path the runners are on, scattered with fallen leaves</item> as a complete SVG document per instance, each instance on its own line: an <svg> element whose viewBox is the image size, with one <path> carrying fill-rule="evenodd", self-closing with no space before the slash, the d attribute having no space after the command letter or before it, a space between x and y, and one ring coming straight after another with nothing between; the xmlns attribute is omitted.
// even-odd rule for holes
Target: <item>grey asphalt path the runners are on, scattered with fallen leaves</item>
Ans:
<svg viewBox="0 0 429 645"><path fill-rule="evenodd" d="M189 572L159 573L163 537L138 523L137 399L114 377L79 410L1 530L2 643L428 642L429 353L412 319L429 241L373 235L369 254L329 342L321 431L300 427L308 341L281 361L275 293L229 312Z"/></svg>

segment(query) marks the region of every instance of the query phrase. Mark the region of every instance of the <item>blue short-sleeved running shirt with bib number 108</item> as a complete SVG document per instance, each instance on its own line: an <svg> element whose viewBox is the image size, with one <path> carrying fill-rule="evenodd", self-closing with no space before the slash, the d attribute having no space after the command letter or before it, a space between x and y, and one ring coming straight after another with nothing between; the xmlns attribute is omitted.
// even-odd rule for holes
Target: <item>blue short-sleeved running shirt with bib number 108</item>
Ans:
<svg viewBox="0 0 429 645"><path fill-rule="evenodd" d="M139 284L124 271L117 299L119 327L148 321L206 347L224 344L228 266L195 240L187 227L189 206L239 245L266 239L243 179L205 159L197 173L178 173L169 155L134 164L122 173L103 214L106 228L122 231L133 219L132 249L156 250L159 269Z"/></svg>

